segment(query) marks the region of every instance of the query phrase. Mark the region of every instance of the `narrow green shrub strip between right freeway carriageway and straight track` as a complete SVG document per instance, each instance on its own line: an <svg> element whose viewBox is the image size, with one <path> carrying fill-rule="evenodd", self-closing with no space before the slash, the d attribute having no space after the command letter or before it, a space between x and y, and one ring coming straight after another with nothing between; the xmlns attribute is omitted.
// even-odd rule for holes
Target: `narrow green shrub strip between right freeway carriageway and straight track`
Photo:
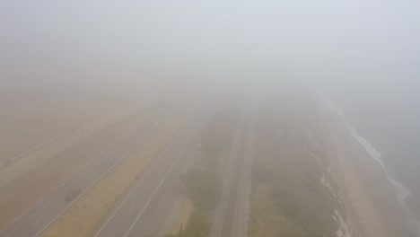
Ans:
<svg viewBox="0 0 420 237"><path fill-rule="evenodd" d="M237 115L236 108L220 110L202 130L200 149L203 155L181 177L193 210L180 233L165 237L205 237L210 233L211 218L222 196L222 167L230 153Z"/></svg>

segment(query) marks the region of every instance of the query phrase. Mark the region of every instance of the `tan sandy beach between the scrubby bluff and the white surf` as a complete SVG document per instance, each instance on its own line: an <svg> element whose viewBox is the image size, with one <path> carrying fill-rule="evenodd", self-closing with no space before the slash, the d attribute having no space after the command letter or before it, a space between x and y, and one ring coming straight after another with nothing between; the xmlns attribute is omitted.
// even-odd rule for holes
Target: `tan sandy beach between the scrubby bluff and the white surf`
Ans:
<svg viewBox="0 0 420 237"><path fill-rule="evenodd" d="M331 129L331 170L346 206L352 237L413 237L385 171L349 133L342 121Z"/></svg>

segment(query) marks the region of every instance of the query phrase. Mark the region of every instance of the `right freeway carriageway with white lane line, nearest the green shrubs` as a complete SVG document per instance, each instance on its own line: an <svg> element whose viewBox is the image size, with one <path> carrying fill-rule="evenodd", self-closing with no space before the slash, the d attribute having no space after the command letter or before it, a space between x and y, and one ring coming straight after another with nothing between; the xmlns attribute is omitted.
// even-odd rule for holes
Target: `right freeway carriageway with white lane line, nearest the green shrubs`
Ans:
<svg viewBox="0 0 420 237"><path fill-rule="evenodd" d="M180 189L179 175L185 167L186 154L205 118L203 113L199 118L191 119L102 224L95 237L145 237L159 231L171 207L171 197L166 194Z"/></svg>

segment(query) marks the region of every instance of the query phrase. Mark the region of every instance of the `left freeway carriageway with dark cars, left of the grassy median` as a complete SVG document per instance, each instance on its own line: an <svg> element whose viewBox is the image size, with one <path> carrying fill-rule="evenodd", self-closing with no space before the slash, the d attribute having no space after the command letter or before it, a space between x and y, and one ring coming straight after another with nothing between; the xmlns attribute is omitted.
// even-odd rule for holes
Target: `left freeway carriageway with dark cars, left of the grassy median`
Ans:
<svg viewBox="0 0 420 237"><path fill-rule="evenodd" d="M106 151L102 156L92 163L85 171L76 175L73 180L64 187L58 188L48 198L32 207L26 214L9 225L0 233L2 237L28 237L38 236L49 224L57 219L66 208L71 206L77 198L92 187L94 183L101 180L108 171L112 170L122 159L127 157L144 139L152 136L159 125L156 120L163 121L171 116L171 110L162 108L156 111L153 119L146 121L144 125L133 131L123 142ZM69 196L74 196L69 200Z"/></svg>

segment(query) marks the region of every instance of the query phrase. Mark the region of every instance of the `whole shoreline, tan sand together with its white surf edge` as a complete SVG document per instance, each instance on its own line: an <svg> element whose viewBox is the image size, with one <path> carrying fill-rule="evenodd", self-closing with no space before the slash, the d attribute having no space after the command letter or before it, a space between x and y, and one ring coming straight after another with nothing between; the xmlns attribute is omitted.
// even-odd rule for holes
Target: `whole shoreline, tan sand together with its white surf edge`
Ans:
<svg viewBox="0 0 420 237"><path fill-rule="evenodd" d="M384 225L377 227L386 230L386 234L380 236L420 236L417 216L407 207L407 198L412 198L410 190L389 173L381 160L381 153L357 134L354 127L346 121L344 113L321 92L317 91L316 94L321 110L328 115L328 142L334 149L330 154L331 161L336 162L337 177L341 175L341 180L338 180L341 181L340 187L344 189L344 198L349 199L347 203L351 206L364 204L367 209L372 209L367 211L360 206L349 207L348 209L354 210L354 218L368 229L374 229L371 226L372 221L359 220L371 216L369 218L379 223L378 225ZM361 213L363 216L359 216ZM365 233L362 236L378 235Z"/></svg>

